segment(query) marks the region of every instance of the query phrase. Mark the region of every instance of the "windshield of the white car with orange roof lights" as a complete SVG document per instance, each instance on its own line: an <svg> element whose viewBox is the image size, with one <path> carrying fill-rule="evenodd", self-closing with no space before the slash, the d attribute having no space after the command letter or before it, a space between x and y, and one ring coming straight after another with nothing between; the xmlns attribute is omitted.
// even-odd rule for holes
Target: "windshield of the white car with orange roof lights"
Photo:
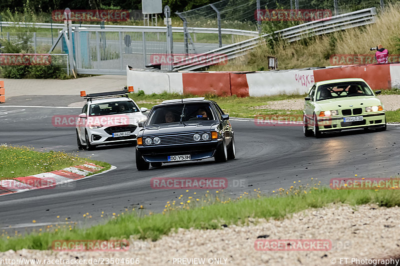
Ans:
<svg viewBox="0 0 400 266"><path fill-rule="evenodd" d="M104 102L91 104L89 116L126 114L139 111L139 108L131 101Z"/></svg>

